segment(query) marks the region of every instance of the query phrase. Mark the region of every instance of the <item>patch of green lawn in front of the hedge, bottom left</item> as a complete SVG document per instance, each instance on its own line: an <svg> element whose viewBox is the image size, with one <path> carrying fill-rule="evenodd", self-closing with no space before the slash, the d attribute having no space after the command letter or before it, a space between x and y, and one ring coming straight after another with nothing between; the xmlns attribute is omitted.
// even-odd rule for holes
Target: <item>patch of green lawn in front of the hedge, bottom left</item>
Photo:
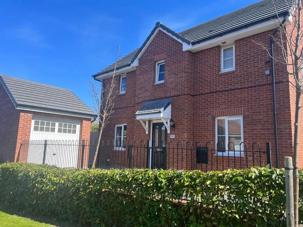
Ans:
<svg viewBox="0 0 303 227"><path fill-rule="evenodd" d="M0 227L76 227L76 223L57 221L50 217L30 215L0 205Z"/></svg>

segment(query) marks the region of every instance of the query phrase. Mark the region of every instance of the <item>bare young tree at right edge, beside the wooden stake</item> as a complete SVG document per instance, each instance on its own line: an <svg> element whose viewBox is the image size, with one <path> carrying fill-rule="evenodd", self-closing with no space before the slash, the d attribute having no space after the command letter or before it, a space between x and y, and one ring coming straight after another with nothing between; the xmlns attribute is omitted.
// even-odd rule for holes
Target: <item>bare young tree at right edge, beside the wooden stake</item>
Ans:
<svg viewBox="0 0 303 227"><path fill-rule="evenodd" d="M293 166L294 166L294 213L295 226L298 226L298 202L299 202L299 178L298 178L298 153L299 153L299 132L301 117L301 95L303 92L302 81L302 59L303 59L303 29L302 29L302 0L285 0L285 11L288 15L281 18L272 0L278 19L273 19L277 26L277 33L271 35L281 51L280 54L272 54L271 47L264 43L258 43L267 51L268 55L279 64L285 65L289 74L289 80L285 80L290 85L290 89L295 91L295 119L293 137ZM274 33L273 33L274 34ZM278 157L276 157L278 158Z"/></svg>

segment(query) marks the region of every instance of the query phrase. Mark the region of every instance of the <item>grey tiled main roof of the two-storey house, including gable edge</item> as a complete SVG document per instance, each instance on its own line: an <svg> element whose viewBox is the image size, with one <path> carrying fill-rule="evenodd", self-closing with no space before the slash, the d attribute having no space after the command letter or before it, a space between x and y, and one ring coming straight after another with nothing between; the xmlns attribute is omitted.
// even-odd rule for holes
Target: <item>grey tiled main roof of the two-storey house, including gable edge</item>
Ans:
<svg viewBox="0 0 303 227"><path fill-rule="evenodd" d="M289 8L289 5L287 5L285 0L274 1L278 14L285 13L285 10ZM291 4L292 0L286 1L288 4ZM182 41L186 43L189 41L192 44L195 44L197 42L215 38L217 36L224 35L226 33L236 31L246 26L260 23L274 17L276 17L276 12L273 7L272 0L263 0L261 2L256 2L252 5L230 12L210 21L206 21L200 25L196 25L195 27L188 28L185 31L181 31L179 33L176 33L165 25L157 22L155 28L151 31L151 34L148 36L147 40L151 37L156 28L161 27ZM129 66L138 56L139 52L143 49L147 43L147 40L143 43L141 48L135 49L130 54L127 54L125 57L118 60L116 69ZM93 77L99 74L113 71L114 69L115 62L93 75Z"/></svg>

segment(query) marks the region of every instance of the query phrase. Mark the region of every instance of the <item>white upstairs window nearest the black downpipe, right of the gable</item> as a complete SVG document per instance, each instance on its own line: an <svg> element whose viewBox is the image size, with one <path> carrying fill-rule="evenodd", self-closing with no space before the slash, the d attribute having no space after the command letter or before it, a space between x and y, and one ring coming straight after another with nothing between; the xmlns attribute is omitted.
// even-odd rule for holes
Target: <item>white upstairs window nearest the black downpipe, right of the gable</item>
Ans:
<svg viewBox="0 0 303 227"><path fill-rule="evenodd" d="M221 48L221 72L235 69L235 45Z"/></svg>

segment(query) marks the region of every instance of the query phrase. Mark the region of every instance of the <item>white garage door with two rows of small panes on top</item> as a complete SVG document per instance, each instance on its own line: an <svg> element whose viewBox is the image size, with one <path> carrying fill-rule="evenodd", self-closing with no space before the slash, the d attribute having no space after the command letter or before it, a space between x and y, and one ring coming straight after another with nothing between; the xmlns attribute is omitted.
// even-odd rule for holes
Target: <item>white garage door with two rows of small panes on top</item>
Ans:
<svg viewBox="0 0 303 227"><path fill-rule="evenodd" d="M79 153L80 122L58 118L33 117L28 162L63 168L76 168ZM47 140L44 153L44 140Z"/></svg>

